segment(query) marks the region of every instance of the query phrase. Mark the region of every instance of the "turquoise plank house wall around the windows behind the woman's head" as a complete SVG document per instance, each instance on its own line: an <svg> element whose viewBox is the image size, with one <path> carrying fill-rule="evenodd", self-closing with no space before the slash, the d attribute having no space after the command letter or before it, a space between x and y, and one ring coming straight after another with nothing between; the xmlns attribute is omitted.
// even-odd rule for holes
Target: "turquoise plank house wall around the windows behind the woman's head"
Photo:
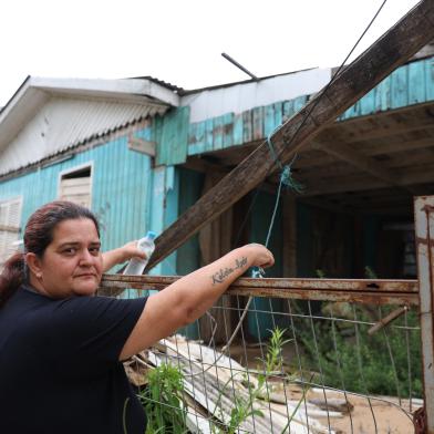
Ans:
<svg viewBox="0 0 434 434"><path fill-rule="evenodd" d="M151 131L137 136L149 140ZM161 232L177 217L178 180L172 167L152 167L147 155L130 151L127 137L78 153L72 158L0 183L0 200L23 198L21 228L41 205L58 197L60 174L83 164L92 164L92 210L101 223L103 249L108 250L148 229ZM170 272L173 255L154 272Z"/></svg>

